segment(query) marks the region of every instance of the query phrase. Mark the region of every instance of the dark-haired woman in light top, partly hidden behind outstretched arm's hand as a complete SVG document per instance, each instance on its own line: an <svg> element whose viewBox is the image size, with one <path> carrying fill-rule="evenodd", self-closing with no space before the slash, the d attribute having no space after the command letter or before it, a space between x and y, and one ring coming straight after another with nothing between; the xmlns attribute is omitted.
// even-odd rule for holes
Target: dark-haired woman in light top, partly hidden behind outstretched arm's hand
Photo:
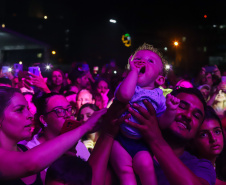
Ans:
<svg viewBox="0 0 226 185"><path fill-rule="evenodd" d="M86 122L95 111L100 110L95 104L86 103L82 105L79 109L77 120ZM86 148L91 152L96 144L96 141L99 137L99 132L86 134L82 138L82 142L85 144Z"/></svg>

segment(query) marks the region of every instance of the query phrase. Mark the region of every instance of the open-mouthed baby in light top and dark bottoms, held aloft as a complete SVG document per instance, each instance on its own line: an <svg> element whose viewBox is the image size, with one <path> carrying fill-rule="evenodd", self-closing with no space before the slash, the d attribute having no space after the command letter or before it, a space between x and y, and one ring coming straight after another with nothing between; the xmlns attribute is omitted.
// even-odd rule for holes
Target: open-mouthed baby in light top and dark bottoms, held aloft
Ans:
<svg viewBox="0 0 226 185"><path fill-rule="evenodd" d="M165 63L157 49L143 44L129 58L130 71L115 91L115 98L124 103L137 103L145 108L142 101L151 102L162 129L173 122L180 101L170 94L165 98L158 88L165 83ZM133 117L130 120L138 123ZM157 185L150 152L139 131L123 123L111 152L111 163L121 184L137 184L137 174L143 185Z"/></svg>

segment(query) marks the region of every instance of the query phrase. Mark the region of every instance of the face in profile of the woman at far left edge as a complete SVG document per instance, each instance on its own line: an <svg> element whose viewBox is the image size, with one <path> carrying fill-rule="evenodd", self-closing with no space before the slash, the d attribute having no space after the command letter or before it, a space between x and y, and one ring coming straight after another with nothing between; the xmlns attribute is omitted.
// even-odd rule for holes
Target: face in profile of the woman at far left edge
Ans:
<svg viewBox="0 0 226 185"><path fill-rule="evenodd" d="M1 138L9 138L15 143L31 138L34 130L33 115L28 110L28 103L22 94L14 94L1 120Z"/></svg>

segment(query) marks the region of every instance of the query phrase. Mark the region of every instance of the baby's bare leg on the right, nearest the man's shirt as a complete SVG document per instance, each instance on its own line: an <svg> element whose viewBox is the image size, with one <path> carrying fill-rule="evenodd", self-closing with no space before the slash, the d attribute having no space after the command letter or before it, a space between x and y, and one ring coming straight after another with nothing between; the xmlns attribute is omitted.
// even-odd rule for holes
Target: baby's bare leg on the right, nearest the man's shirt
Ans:
<svg viewBox="0 0 226 185"><path fill-rule="evenodd" d="M142 185L157 185L153 159L148 151L140 151L133 157L133 170Z"/></svg>

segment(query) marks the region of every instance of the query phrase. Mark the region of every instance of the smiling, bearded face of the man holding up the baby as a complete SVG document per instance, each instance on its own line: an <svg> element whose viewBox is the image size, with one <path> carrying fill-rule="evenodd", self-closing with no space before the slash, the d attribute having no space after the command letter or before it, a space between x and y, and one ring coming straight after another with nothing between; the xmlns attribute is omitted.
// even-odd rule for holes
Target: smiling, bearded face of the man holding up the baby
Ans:
<svg viewBox="0 0 226 185"><path fill-rule="evenodd" d="M203 104L193 94L179 93L177 98L180 99L180 104L169 129L185 140L193 139L204 118Z"/></svg>

